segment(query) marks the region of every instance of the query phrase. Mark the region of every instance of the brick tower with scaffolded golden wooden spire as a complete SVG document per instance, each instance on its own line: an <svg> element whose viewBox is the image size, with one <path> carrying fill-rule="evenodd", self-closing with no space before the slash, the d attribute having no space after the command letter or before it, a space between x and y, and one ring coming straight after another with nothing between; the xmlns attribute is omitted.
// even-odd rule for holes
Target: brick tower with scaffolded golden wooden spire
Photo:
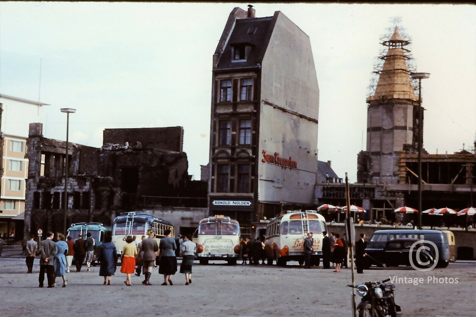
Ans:
<svg viewBox="0 0 476 317"><path fill-rule="evenodd" d="M357 181L396 184L400 151L418 149L418 96L407 63L410 40L395 27L381 44L387 50L379 57L383 65L367 98L367 151L358 154Z"/></svg>

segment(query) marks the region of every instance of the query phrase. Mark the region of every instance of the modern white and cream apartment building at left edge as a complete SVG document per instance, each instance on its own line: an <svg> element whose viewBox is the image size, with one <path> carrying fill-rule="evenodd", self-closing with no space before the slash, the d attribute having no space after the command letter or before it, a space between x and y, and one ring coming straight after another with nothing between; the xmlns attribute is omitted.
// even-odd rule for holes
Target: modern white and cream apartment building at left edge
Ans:
<svg viewBox="0 0 476 317"><path fill-rule="evenodd" d="M25 211L29 124L43 122L42 106L48 104L0 94L0 105L0 234L10 237L23 231L11 219Z"/></svg>

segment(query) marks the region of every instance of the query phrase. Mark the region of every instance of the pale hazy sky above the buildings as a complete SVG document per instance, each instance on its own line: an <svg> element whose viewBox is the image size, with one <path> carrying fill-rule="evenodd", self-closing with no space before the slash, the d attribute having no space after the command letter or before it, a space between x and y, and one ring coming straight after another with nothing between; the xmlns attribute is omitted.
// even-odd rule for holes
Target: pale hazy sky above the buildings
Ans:
<svg viewBox="0 0 476 317"><path fill-rule="evenodd" d="M252 3L254 4L254 3ZM248 3L0 2L0 93L44 106L43 134L93 147L110 128L184 127L188 173L208 163L212 56ZM368 85L393 18L412 39L424 148L452 154L476 136L476 6L256 3L310 38L319 83L318 159L357 181ZM41 71L40 71L41 70ZM40 76L41 75L41 76Z"/></svg>

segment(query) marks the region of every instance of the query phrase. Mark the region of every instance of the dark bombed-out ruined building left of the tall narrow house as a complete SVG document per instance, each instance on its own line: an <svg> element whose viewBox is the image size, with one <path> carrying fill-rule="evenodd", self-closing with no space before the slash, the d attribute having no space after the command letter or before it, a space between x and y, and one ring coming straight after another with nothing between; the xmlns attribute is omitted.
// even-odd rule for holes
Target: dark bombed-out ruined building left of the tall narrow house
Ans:
<svg viewBox="0 0 476 317"><path fill-rule="evenodd" d="M117 213L149 198L187 196L183 128L105 129L102 148L69 143L67 223L111 224ZM25 237L38 228L62 232L66 142L47 139L31 123ZM165 204L173 205L173 199Z"/></svg>

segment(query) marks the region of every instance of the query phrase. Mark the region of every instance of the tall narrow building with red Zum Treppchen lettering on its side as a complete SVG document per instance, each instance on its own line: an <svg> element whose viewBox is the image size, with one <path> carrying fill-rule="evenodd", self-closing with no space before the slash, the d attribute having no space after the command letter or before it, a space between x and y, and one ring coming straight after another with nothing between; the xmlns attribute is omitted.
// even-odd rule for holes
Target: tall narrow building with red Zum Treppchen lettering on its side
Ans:
<svg viewBox="0 0 476 317"><path fill-rule="evenodd" d="M319 88L309 37L277 11L231 11L213 55L209 212L260 220L313 204Z"/></svg>

